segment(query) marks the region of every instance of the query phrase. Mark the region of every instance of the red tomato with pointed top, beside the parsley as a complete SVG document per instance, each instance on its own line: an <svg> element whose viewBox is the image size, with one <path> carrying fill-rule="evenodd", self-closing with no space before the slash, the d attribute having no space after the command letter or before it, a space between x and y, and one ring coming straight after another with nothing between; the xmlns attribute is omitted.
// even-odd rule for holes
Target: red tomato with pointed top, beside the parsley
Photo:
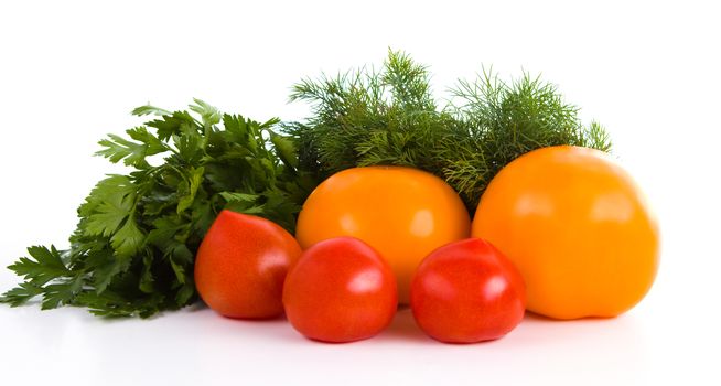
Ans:
<svg viewBox="0 0 721 386"><path fill-rule="evenodd" d="M197 251L195 286L224 317L277 317L283 312L283 280L300 255L293 236L277 224L223 211Z"/></svg>

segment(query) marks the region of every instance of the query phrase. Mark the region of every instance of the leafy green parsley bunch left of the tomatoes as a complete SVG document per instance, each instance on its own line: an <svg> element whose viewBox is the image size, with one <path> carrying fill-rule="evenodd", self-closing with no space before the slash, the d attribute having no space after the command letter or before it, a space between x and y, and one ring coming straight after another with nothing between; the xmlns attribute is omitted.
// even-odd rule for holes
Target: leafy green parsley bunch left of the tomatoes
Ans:
<svg viewBox="0 0 721 386"><path fill-rule="evenodd" d="M314 184L298 170L293 142L273 131L278 119L222 115L197 99L190 111L143 106L132 112L158 118L127 130L129 138L109 135L97 152L132 171L93 189L69 249L28 248L29 257L9 267L24 282L0 301L20 305L42 297L43 309L71 304L147 318L197 299L195 251L220 210L293 232Z"/></svg>

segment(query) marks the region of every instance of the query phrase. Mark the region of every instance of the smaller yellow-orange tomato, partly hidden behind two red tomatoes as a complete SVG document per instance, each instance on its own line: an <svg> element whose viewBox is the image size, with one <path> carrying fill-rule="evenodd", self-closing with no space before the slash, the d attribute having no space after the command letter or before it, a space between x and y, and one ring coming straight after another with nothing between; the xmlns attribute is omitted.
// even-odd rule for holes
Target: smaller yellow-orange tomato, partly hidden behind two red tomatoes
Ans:
<svg viewBox="0 0 721 386"><path fill-rule="evenodd" d="M298 218L301 247L332 237L357 237L390 264L401 303L410 279L433 249L469 237L463 202L443 180L411 168L344 170L321 183Z"/></svg>

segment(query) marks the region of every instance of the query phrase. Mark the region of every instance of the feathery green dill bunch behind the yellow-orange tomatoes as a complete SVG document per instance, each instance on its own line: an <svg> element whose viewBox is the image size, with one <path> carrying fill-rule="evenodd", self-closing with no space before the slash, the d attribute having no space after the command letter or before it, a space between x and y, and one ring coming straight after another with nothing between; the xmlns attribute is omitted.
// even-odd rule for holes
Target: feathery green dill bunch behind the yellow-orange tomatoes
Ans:
<svg viewBox="0 0 721 386"><path fill-rule="evenodd" d="M491 179L534 149L574 144L609 151L609 137L556 87L528 74L504 83L491 72L461 81L439 107L426 66L390 51L380 71L360 68L305 79L291 100L313 115L286 124L301 168L322 180L343 169L377 164L420 168L445 180L473 213Z"/></svg>

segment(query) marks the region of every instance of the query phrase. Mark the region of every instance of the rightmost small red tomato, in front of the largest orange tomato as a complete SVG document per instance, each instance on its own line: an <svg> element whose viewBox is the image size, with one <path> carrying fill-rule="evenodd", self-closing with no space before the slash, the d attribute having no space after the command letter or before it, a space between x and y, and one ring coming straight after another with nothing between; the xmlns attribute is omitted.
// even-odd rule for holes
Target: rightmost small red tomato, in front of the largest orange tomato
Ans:
<svg viewBox="0 0 721 386"><path fill-rule="evenodd" d="M526 287L516 267L491 243L467 238L431 253L410 291L416 322L441 342L502 337L524 318Z"/></svg>

